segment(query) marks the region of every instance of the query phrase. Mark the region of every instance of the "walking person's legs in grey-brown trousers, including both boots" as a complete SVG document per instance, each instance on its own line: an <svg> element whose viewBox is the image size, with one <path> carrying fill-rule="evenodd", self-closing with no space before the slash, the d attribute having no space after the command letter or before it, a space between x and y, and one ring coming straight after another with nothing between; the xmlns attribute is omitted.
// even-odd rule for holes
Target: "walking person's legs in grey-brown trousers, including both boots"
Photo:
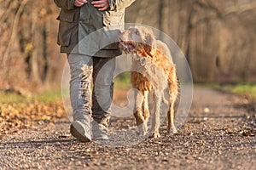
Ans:
<svg viewBox="0 0 256 170"><path fill-rule="evenodd" d="M70 133L82 142L108 139L115 59L69 54L68 63L71 73L70 100L73 107ZM105 65L106 63L108 64ZM91 98L92 82L94 86Z"/></svg>

